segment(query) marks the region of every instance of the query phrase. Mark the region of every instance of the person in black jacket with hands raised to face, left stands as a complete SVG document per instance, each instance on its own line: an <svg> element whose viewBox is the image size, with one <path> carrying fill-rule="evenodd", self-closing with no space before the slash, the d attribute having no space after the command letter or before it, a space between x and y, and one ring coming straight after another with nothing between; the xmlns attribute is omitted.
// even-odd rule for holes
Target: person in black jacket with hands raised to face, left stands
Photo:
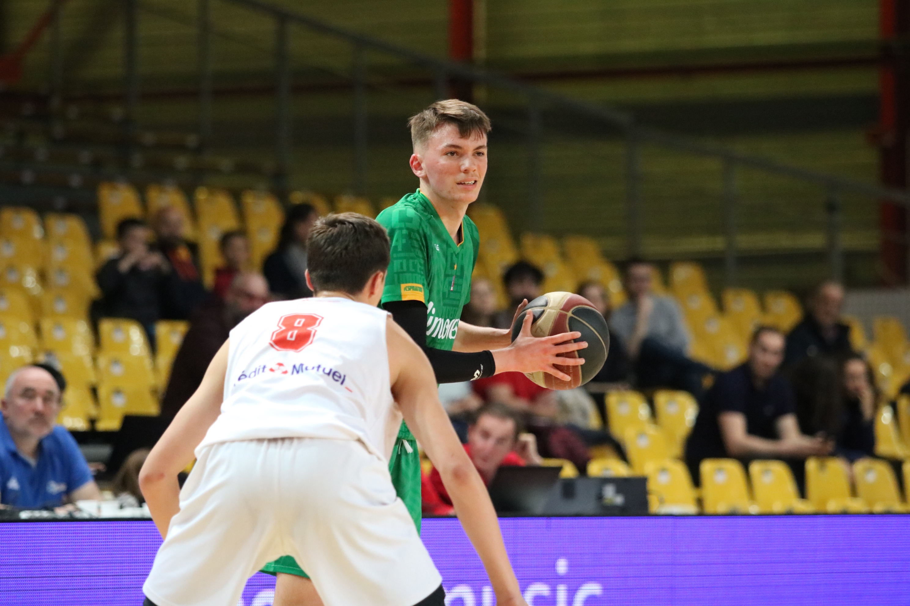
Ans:
<svg viewBox="0 0 910 606"><path fill-rule="evenodd" d="M120 253L96 274L102 315L132 318L155 342L155 323L177 291L175 276L164 255L149 250L148 228L139 219L124 219L116 228Z"/></svg>

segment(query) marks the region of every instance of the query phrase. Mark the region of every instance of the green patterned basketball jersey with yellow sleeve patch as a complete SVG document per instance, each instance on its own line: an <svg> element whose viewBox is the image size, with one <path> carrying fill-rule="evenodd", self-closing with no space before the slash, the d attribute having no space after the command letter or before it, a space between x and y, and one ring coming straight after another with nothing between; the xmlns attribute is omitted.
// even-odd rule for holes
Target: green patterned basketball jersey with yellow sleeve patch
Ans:
<svg viewBox="0 0 910 606"><path fill-rule="evenodd" d="M382 303L425 303L427 346L451 350L461 308L470 299L470 274L480 248L477 225L465 216L461 243L456 244L420 190L389 206L376 220L389 232L391 241Z"/></svg>

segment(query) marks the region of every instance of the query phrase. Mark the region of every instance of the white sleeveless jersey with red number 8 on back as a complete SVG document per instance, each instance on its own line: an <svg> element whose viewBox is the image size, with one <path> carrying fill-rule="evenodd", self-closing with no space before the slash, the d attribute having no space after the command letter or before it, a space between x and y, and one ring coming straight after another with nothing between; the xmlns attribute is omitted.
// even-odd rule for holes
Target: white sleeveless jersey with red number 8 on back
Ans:
<svg viewBox="0 0 910 606"><path fill-rule="evenodd" d="M344 298L263 305L230 332L221 414L199 444L359 440L388 459L401 413L389 385L389 314Z"/></svg>

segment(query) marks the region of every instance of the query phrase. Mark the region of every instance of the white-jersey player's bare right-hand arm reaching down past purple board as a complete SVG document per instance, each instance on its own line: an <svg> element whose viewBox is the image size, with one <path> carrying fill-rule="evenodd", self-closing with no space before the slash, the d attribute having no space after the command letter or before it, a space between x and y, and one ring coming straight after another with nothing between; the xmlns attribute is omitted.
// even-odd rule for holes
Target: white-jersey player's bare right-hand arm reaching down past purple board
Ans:
<svg viewBox="0 0 910 606"><path fill-rule="evenodd" d="M525 604L490 496L440 404L429 361L391 319L386 338L392 394L411 431L425 445L430 461L440 471L455 512L487 570L497 603Z"/></svg>

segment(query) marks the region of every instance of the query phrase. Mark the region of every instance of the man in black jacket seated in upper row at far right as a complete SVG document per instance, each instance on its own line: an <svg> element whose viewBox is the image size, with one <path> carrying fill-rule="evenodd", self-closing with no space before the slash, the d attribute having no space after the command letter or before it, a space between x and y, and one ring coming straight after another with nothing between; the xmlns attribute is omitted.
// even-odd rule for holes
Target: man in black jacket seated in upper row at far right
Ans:
<svg viewBox="0 0 910 606"><path fill-rule="evenodd" d="M840 322L844 286L830 280L820 283L808 303L809 313L787 335L786 367L805 358L842 358L853 352L850 327Z"/></svg>

